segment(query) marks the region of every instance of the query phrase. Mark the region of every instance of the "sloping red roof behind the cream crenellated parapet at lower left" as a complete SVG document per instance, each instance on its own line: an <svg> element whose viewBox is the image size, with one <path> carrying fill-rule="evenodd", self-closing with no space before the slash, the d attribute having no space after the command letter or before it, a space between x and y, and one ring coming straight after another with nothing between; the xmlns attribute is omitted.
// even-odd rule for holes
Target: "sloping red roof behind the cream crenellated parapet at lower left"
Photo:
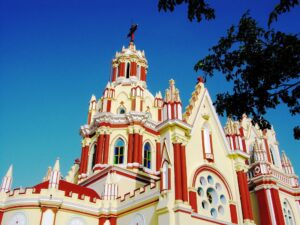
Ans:
<svg viewBox="0 0 300 225"><path fill-rule="evenodd" d="M41 189L48 189L48 186L49 181L45 181L43 183L35 185L33 188L35 188L36 193L40 193ZM101 199L98 193L93 189L82 187L77 184L72 184L64 180L59 181L58 190L65 191L66 196L70 196L70 192L77 193L80 199L83 196L89 196L91 198L91 201L93 201L94 198Z"/></svg>

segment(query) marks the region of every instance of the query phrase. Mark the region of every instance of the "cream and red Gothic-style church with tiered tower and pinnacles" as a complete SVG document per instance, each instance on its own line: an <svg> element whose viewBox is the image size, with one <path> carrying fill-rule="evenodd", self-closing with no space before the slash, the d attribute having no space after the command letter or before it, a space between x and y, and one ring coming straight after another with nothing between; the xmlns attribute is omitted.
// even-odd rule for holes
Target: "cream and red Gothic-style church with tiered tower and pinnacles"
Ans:
<svg viewBox="0 0 300 225"><path fill-rule="evenodd" d="M296 225L300 187L273 129L216 114L198 78L183 108L174 80L147 88L148 61L132 40L92 96L81 152L33 187L0 186L1 225ZM103 85L104 86L104 85Z"/></svg>

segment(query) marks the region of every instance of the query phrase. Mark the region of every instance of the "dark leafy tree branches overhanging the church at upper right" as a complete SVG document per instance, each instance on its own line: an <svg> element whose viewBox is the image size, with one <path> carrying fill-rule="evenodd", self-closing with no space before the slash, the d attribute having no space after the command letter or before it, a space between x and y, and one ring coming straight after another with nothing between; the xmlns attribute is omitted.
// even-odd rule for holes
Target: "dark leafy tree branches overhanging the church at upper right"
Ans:
<svg viewBox="0 0 300 225"><path fill-rule="evenodd" d="M188 5L188 18L198 22L215 18L215 10L205 0L159 0L159 10L174 11ZM291 115L300 113L300 40L298 34L270 29L278 15L299 5L298 0L280 0L269 15L268 29L259 27L249 13L236 26L231 26L210 54L198 61L195 70L205 78L221 72L233 89L217 95L217 112L239 119L246 113L261 129L270 128L264 118L267 109L285 104ZM300 139L300 127L294 128Z"/></svg>

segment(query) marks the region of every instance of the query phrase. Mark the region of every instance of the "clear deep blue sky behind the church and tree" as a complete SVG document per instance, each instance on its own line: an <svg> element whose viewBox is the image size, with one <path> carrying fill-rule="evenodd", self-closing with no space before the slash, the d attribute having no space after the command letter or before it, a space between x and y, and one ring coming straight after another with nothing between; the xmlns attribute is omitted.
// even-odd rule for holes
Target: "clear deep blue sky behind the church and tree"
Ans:
<svg viewBox="0 0 300 225"><path fill-rule="evenodd" d="M210 2L217 19L198 24L188 21L185 6L158 12L157 1L0 0L0 176L13 164L14 187L31 186L57 157L66 175L80 157L89 99L101 95L131 23L139 24L136 45L149 62L149 89L164 92L174 78L186 105L200 75L197 60L247 9L265 26L277 1ZM273 27L299 32L299 7ZM213 99L230 87L221 76L206 85ZM300 142L292 135L299 116L282 106L267 118L300 174Z"/></svg>

